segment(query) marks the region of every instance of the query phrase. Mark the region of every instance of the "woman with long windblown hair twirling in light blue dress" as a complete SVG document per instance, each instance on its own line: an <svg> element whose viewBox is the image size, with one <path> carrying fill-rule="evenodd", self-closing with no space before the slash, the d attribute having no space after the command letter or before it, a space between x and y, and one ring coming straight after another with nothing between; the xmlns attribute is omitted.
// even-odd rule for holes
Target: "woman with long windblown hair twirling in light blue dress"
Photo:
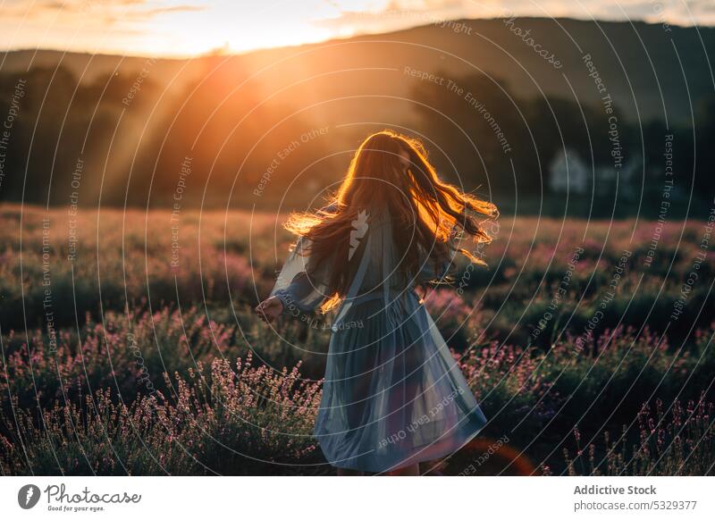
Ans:
<svg viewBox="0 0 715 520"><path fill-rule="evenodd" d="M315 437L338 474L419 474L486 424L415 288L441 281L475 214L495 205L442 182L416 140L391 130L360 145L332 204L292 214L299 239L270 298L271 323L337 307Z"/></svg>

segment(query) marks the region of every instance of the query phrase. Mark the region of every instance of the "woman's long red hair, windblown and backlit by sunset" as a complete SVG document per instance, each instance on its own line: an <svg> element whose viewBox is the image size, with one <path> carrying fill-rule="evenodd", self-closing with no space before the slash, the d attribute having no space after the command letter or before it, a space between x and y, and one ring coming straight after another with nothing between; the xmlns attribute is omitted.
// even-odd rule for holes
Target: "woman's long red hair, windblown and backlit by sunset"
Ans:
<svg viewBox="0 0 715 520"><path fill-rule="evenodd" d="M401 154L409 156L404 166ZM324 262L329 274L329 298L322 306L327 311L345 296L350 283L352 263L349 258L350 231L366 212L387 208L391 215L393 241L401 262L398 271L415 279L420 271L420 247L435 266L450 259L450 233L454 226L477 242L491 242L475 214L495 218L496 205L468 195L440 180L427 160L425 147L416 138L382 130L366 138L350 162L340 189L329 201L335 211L290 214L284 227L311 241L307 272ZM408 230L408 231L406 231ZM458 251L472 262L484 261L467 249ZM325 267L325 266L324 266Z"/></svg>

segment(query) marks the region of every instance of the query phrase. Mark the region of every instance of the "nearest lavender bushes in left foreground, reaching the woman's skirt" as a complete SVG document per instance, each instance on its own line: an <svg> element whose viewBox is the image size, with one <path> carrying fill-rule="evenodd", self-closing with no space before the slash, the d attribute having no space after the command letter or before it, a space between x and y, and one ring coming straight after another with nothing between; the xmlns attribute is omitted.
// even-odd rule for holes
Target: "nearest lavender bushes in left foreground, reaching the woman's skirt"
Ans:
<svg viewBox="0 0 715 520"><path fill-rule="evenodd" d="M42 420L16 406L0 436L3 474L319 473L324 461L312 437L320 382L301 381L299 366L275 372L198 363L188 378L164 373L172 396L156 391L130 405L109 388L80 405L59 401ZM311 465L308 470L305 465Z"/></svg>

